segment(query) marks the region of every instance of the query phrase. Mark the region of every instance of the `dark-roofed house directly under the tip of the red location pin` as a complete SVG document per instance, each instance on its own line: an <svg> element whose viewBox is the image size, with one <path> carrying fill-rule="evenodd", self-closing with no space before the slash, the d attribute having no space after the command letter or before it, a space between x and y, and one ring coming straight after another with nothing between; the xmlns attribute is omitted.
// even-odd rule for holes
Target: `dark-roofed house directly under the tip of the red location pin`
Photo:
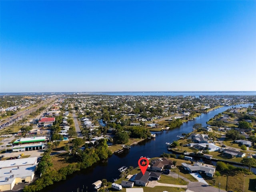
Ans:
<svg viewBox="0 0 256 192"><path fill-rule="evenodd" d="M146 171L144 175L142 172L139 172L134 178L134 184L145 187L148 184L148 180L159 180L160 176L161 173L158 172Z"/></svg>

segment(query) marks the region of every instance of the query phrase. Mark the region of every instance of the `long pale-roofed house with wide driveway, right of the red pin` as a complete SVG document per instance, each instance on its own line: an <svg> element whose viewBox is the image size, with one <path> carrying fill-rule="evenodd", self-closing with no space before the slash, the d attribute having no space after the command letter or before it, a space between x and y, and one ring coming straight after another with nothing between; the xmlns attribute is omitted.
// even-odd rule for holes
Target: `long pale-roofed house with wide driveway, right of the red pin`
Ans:
<svg viewBox="0 0 256 192"><path fill-rule="evenodd" d="M202 173L205 173L206 176L208 176L208 177L213 177L214 172L216 170L215 167L212 167L211 165L203 165L200 162L198 162L194 165L188 165L186 163L182 163L181 165L185 170L187 170L190 173L202 172Z"/></svg>

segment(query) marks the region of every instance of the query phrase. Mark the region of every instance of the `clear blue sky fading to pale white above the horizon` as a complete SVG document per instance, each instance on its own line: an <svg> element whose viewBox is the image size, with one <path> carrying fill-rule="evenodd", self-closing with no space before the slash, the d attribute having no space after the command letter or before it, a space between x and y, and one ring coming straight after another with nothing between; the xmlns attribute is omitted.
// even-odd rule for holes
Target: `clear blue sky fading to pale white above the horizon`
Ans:
<svg viewBox="0 0 256 192"><path fill-rule="evenodd" d="M255 91L256 1L0 1L0 92Z"/></svg>

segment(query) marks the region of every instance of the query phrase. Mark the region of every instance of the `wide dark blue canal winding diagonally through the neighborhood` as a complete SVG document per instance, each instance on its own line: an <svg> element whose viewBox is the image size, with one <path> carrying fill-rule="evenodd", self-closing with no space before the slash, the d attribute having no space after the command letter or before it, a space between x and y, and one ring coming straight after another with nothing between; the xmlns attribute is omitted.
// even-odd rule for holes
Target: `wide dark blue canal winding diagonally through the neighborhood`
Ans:
<svg viewBox="0 0 256 192"><path fill-rule="evenodd" d="M228 108L249 106L252 104L242 104L237 106L224 106L208 112L207 114L202 114L193 121L188 121L182 124L179 128L174 128L168 131L154 132L156 133L156 138L152 140L145 140L135 146L131 146L130 152L123 153L121 155L112 155L108 158L107 162L98 162L94 166L76 172L67 177L66 180L54 183L42 190L42 192L77 192L79 188L80 191L92 192L92 183L97 180L107 179L110 182L114 182L115 178L119 178L118 168L122 166L138 166L138 160L141 156L145 157L156 157L160 156L163 152L168 152L166 148L166 142L173 142L177 140L177 136L181 136L182 133L192 132L192 126L196 123L206 126L206 122L213 118L216 114L224 112Z"/></svg>

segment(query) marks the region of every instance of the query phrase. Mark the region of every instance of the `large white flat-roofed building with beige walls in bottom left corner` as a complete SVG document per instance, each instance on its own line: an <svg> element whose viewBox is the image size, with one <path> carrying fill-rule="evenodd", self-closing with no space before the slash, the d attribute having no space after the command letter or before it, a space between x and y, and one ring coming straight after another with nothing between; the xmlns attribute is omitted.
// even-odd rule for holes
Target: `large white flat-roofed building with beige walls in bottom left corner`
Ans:
<svg viewBox="0 0 256 192"><path fill-rule="evenodd" d="M37 157L4 160L0 164L0 191L12 190L15 184L31 182Z"/></svg>

